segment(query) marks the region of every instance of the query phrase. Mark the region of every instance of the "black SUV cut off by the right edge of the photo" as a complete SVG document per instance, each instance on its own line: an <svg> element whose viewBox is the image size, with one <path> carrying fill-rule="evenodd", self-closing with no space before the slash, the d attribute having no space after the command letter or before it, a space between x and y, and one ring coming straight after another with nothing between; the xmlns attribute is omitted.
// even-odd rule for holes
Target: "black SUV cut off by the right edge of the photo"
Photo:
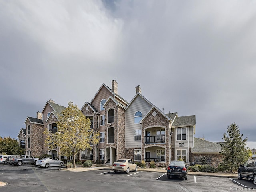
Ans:
<svg viewBox="0 0 256 192"><path fill-rule="evenodd" d="M237 176L238 179L250 179L256 185L256 159L247 160L243 165L240 165Z"/></svg>

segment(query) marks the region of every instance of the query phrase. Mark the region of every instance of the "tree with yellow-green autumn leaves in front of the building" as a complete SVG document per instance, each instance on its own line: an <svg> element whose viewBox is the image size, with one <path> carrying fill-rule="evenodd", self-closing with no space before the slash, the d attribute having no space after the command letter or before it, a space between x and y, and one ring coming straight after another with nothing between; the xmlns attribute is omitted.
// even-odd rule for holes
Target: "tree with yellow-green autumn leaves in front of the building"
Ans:
<svg viewBox="0 0 256 192"><path fill-rule="evenodd" d="M73 157L73 166L76 167L75 156L80 150L91 149L90 144L98 144L99 133L90 128L90 119L86 118L73 102L58 114L58 131L51 133L45 130L45 142L52 149L58 146L60 154Z"/></svg>

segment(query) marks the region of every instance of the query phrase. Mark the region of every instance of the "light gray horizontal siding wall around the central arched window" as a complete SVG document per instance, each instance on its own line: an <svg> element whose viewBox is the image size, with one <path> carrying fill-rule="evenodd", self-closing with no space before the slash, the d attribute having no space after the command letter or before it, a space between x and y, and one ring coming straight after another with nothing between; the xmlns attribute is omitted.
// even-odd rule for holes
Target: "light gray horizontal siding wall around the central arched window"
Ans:
<svg viewBox="0 0 256 192"><path fill-rule="evenodd" d="M125 146L126 148L139 148L141 141L134 141L134 130L140 129L141 124L134 124L134 114L137 111L142 112L142 118L148 113L152 106L144 100L140 95L137 95L130 104L125 114Z"/></svg>

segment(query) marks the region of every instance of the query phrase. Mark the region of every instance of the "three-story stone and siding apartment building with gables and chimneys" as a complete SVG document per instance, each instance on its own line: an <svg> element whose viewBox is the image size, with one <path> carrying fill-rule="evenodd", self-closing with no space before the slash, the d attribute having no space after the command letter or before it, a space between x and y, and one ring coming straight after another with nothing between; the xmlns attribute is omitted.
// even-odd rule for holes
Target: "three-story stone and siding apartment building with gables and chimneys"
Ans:
<svg viewBox="0 0 256 192"><path fill-rule="evenodd" d="M26 130L21 129L18 138L20 144L26 141L27 154L60 156L58 148L49 150L45 146L43 131L58 130L58 113L64 108L49 100L36 118L26 118ZM164 113L142 95L140 86L135 88L134 98L127 102L118 95L116 80L111 88L102 84L81 111L90 118L91 129L100 132L100 138L91 149L82 150L78 159L113 164L119 158L130 158L135 162L154 161L157 166L167 166L171 160L190 160L195 115L179 117L177 112Z"/></svg>

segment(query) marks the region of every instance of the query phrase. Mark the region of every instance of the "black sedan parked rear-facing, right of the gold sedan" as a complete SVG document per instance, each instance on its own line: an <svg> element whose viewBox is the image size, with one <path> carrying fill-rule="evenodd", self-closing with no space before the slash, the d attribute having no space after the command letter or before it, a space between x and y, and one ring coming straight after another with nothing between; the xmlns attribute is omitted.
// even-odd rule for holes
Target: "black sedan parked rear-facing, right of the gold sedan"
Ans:
<svg viewBox="0 0 256 192"><path fill-rule="evenodd" d="M182 177L188 179L188 167L184 161L171 161L167 168L167 178Z"/></svg>

